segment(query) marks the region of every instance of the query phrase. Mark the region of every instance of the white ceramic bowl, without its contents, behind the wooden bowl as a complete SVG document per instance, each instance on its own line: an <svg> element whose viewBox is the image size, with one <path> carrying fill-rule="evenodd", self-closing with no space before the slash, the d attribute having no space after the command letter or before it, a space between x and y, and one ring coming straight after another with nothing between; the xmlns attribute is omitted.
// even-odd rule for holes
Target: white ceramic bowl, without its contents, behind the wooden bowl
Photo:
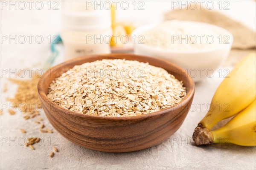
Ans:
<svg viewBox="0 0 256 170"><path fill-rule="evenodd" d="M204 26L207 29L220 33L222 36L229 36L229 43L221 43L208 49L195 49L195 51L174 51L169 49L155 48L143 44L142 39L140 39L141 41L138 43L138 36L143 35L145 31L150 30L160 24L153 23L141 26L133 31L132 37L136 37L137 39L134 44L134 54L157 57L173 62L186 70L195 82L199 82L205 77L212 77L213 74L217 74L217 69L223 64L230 53L233 43L233 35L224 28L211 24L192 21L187 22L197 24L198 27Z"/></svg>

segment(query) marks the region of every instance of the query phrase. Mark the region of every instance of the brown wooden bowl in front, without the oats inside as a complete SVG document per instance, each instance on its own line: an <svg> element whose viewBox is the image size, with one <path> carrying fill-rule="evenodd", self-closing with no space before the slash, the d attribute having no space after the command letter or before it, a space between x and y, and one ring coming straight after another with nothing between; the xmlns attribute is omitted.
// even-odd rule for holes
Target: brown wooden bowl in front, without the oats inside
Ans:
<svg viewBox="0 0 256 170"><path fill-rule="evenodd" d="M171 108L129 117L100 117L76 113L55 105L47 98L52 80L75 65L101 59L137 60L164 68L183 81L187 95ZM185 71L171 62L132 54L106 54L71 59L51 68L39 80L38 93L49 122L71 142L104 152L131 152L160 144L175 133L189 112L195 84Z"/></svg>

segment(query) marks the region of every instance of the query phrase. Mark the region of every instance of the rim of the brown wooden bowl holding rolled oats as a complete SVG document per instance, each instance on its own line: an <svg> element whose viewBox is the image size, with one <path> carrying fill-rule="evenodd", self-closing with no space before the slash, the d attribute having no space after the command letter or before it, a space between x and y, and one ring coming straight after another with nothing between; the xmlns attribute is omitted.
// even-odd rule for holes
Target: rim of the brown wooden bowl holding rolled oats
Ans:
<svg viewBox="0 0 256 170"><path fill-rule="evenodd" d="M182 71L182 73L184 73L182 75L183 76L186 75L186 80L188 81L188 85L189 85L189 91L187 91L186 96L180 102L173 105L172 107L165 108L165 109L162 109L160 111L156 111L156 112L152 112L152 113L148 113L148 114L136 115L136 116L123 116L123 117L93 116L93 115L87 115L87 114L82 114L82 113L77 113L77 112L74 112L74 111L70 111L66 108L63 108L61 106L56 105L44 93L44 90L43 90L44 79L47 78L48 74L49 73L51 74L52 71L54 71L55 69L59 69L62 66L67 65L68 63L77 62L77 61L80 61L80 60L83 60L83 59L97 58L97 57L113 57L113 59L118 59L118 57L120 55L123 56L123 57L125 57L125 56L136 56L136 57L142 57L142 58L154 58L156 60L159 60L160 62L166 62L166 63L168 63L168 65L172 65L173 67L180 69ZM125 58L119 58L119 59L125 59ZM101 60L101 59L96 59L96 60ZM136 60L136 59L134 59L134 60ZM84 62L84 63L86 63L86 62ZM155 57L148 57L148 56L141 56L141 55L135 55L135 54L122 54L122 53L120 53L120 54L117 54L117 53L116 54L96 54L96 55L88 55L88 56L85 56L85 57L83 56L83 57L77 57L77 58L74 58L74 59L69 59L65 62L62 62L62 63L60 63L58 65L55 65L54 67L50 68L50 72L46 71L38 81L38 96L41 100L44 100L44 102L48 102L48 104L51 105L52 107L58 108L58 110L61 111L62 113L73 115L73 116L75 115L75 116L78 116L78 117L81 117L81 118L88 118L88 119L101 119L101 120L146 119L146 118L150 118L150 117L153 117L153 116L158 116L160 114L164 114L166 112L171 111L172 109L179 108L180 104L182 105L182 103L188 103L191 99L193 99L194 94L195 94L195 82L192 80L192 78L189 76L189 74L186 71L184 71L182 68L180 68L179 66L173 64L172 62L166 61L164 59L159 59L159 58L155 58ZM41 104L44 105L43 102L41 102Z"/></svg>

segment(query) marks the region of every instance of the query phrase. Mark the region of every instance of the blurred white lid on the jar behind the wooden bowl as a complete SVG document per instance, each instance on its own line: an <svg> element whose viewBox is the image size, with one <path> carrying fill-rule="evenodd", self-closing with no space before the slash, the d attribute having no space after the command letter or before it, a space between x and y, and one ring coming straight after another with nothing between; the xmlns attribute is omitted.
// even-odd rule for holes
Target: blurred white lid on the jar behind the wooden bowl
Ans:
<svg viewBox="0 0 256 170"><path fill-rule="evenodd" d="M79 4L81 2L81 4ZM71 4L69 4L71 3ZM75 8L72 1L63 2L62 26L65 29L76 31L91 31L111 27L111 12L108 9L81 8L83 1L76 1ZM72 8L70 8L72 7Z"/></svg>

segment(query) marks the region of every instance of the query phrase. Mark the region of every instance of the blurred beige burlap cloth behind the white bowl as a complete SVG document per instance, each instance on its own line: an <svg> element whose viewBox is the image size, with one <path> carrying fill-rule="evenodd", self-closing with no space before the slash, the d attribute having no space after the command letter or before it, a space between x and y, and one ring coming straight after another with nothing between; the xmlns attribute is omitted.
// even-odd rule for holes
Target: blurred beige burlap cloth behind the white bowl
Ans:
<svg viewBox="0 0 256 170"><path fill-rule="evenodd" d="M233 34L234 42L229 57L224 65L236 65L247 54L256 51L256 33L243 24L235 21L217 11L196 8L192 10L176 9L164 16L165 20L189 20L210 23L227 29Z"/></svg>

